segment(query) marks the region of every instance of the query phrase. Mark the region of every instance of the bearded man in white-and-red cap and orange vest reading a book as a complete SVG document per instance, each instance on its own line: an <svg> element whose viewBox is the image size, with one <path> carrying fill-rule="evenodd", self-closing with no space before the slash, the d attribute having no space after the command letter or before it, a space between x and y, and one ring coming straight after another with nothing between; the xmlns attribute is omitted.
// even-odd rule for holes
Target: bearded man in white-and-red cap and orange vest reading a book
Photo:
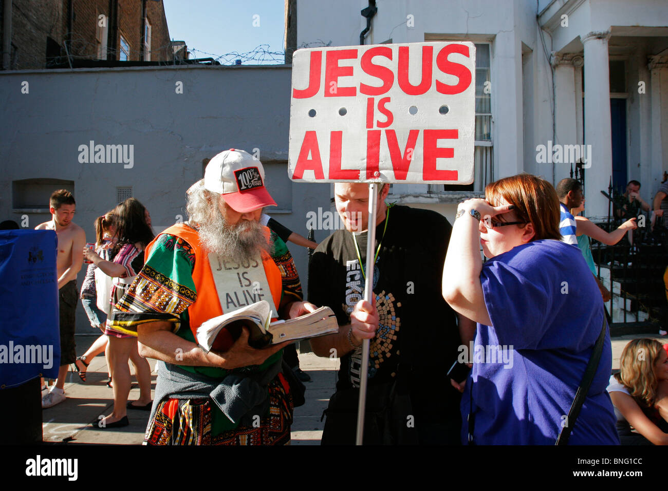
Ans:
<svg viewBox="0 0 668 491"><path fill-rule="evenodd" d="M165 362L145 444L290 442L293 396L303 400L282 363L291 341L254 349L244 327L236 340L218 335L229 337L224 352L196 343L204 321L261 299L274 318L315 309L301 301L285 242L258 222L264 206L276 206L264 180L262 163L243 150L214 156L188 190L189 221L149 244L144 268L114 307L114 327L138 336L142 356Z"/></svg>

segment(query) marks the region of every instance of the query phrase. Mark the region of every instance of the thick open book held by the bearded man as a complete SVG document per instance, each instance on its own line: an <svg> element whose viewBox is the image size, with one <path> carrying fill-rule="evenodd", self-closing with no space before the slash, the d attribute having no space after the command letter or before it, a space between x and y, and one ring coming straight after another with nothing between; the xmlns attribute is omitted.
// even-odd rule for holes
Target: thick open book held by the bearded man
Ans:
<svg viewBox="0 0 668 491"><path fill-rule="evenodd" d="M271 321L269 302L259 302L209 319L197 328L197 342L207 353L227 351L248 327L248 345L261 349L272 344L324 336L339 331L339 323L329 307L320 307L297 319Z"/></svg>

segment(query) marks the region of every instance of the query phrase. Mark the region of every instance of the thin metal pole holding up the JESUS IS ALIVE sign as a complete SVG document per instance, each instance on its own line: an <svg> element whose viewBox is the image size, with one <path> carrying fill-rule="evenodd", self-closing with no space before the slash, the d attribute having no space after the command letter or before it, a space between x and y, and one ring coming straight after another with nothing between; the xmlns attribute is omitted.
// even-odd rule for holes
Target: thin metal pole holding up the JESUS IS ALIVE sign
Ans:
<svg viewBox="0 0 668 491"><path fill-rule="evenodd" d="M367 224L367 261L366 283L364 285L364 299L375 305L373 298L373 248L375 246L375 217L378 208L378 184L369 184L369 221ZM369 372L369 339L362 343L361 380L359 382L359 406L357 407L357 437L355 445L361 445L364 435L364 411L367 402L367 374Z"/></svg>

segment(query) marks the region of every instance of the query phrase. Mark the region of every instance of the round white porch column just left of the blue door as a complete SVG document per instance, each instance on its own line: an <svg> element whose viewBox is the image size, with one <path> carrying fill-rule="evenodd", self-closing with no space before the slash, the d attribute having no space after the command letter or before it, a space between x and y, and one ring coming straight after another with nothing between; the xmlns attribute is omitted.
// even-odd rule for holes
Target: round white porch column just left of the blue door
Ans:
<svg viewBox="0 0 668 491"><path fill-rule="evenodd" d="M610 74L608 39L610 31L593 31L581 37L585 45L585 145L591 148L591 167L585 170L587 216L607 218L607 192L613 174L610 122ZM590 146L591 145L591 146Z"/></svg>

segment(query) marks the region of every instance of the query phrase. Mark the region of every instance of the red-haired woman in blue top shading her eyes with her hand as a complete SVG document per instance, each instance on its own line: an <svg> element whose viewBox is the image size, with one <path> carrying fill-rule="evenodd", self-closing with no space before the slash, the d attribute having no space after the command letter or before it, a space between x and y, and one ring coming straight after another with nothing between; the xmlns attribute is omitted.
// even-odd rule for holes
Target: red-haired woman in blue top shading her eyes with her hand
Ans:
<svg viewBox="0 0 668 491"><path fill-rule="evenodd" d="M520 174L488 184L485 196L458 207L442 285L450 306L478 323L462 440L554 445L568 424L571 444L619 444L605 391L612 352L603 301L582 253L560 241L556 191ZM568 422L601 333L597 371Z"/></svg>

